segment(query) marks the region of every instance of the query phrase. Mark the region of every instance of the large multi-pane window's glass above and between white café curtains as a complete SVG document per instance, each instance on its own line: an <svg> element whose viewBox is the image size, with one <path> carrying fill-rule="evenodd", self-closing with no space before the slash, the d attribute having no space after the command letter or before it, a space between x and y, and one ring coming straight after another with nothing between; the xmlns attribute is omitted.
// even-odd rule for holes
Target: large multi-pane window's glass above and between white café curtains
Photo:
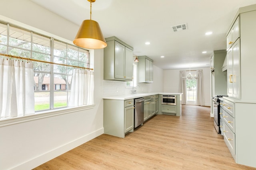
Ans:
<svg viewBox="0 0 256 170"><path fill-rule="evenodd" d="M35 111L67 107L72 66L89 67L87 50L3 23L0 23L0 53L38 60L31 61L34 64Z"/></svg>

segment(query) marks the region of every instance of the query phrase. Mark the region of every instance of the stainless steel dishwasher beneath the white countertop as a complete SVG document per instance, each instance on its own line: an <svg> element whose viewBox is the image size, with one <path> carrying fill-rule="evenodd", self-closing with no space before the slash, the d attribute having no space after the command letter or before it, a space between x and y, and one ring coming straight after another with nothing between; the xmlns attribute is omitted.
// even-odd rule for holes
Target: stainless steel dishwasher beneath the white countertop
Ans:
<svg viewBox="0 0 256 170"><path fill-rule="evenodd" d="M144 121L144 98L134 99L134 103L134 127L138 127Z"/></svg>

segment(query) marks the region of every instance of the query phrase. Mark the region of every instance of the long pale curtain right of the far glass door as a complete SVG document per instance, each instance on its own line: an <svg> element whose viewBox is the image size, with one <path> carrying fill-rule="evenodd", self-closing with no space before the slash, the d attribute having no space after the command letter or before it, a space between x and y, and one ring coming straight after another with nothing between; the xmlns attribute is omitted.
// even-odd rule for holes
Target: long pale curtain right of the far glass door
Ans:
<svg viewBox="0 0 256 170"><path fill-rule="evenodd" d="M204 93L203 93L203 70L197 70L198 78L196 79L196 105L204 106Z"/></svg>

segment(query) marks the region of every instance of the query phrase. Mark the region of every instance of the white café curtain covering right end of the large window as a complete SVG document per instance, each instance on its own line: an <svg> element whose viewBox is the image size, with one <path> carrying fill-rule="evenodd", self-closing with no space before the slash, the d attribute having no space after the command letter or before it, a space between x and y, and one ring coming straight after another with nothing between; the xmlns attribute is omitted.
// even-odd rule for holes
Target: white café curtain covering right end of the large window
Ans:
<svg viewBox="0 0 256 170"><path fill-rule="evenodd" d="M94 72L74 69L68 106L82 106L94 103Z"/></svg>

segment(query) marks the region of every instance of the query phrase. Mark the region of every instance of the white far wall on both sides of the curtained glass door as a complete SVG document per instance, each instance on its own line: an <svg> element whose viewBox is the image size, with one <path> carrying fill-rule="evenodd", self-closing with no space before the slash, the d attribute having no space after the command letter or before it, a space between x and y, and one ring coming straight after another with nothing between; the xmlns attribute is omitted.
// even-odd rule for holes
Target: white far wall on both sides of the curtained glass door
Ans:
<svg viewBox="0 0 256 170"><path fill-rule="evenodd" d="M203 70L204 106L210 106L210 68L196 68ZM164 70L164 92L179 92L180 70Z"/></svg>

